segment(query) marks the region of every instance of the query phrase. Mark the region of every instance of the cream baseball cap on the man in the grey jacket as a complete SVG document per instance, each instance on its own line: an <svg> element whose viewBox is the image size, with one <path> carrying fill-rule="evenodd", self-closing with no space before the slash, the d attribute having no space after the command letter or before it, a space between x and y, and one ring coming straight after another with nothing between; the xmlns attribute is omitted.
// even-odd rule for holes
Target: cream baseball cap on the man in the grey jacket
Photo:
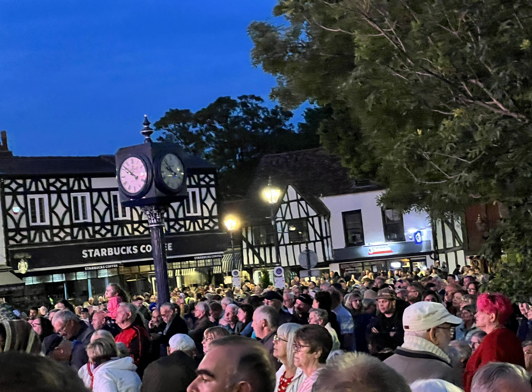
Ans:
<svg viewBox="0 0 532 392"><path fill-rule="evenodd" d="M462 322L453 316L445 306L436 302L416 302L404 310L403 328L405 331L424 331L444 323L458 326Z"/></svg>

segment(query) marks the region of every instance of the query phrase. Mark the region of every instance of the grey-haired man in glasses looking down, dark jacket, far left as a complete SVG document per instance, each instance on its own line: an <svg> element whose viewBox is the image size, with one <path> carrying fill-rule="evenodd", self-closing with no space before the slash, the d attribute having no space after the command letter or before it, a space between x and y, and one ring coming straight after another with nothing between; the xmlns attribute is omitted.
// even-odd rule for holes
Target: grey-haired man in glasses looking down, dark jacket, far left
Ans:
<svg viewBox="0 0 532 392"><path fill-rule="evenodd" d="M69 310L57 312L54 315L52 326L55 332L73 342L70 365L78 371L89 360L85 348L90 343L90 337L94 332L93 328Z"/></svg>

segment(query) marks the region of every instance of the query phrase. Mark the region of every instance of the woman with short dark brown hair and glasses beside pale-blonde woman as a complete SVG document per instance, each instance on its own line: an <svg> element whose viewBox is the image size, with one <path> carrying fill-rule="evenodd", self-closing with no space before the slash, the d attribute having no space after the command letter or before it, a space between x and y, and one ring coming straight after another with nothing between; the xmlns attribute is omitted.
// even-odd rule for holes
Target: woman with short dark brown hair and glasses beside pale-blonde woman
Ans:
<svg viewBox="0 0 532 392"><path fill-rule="evenodd" d="M310 392L332 349L332 338L321 326L304 326L295 333L293 349L294 366L306 376L297 392Z"/></svg>

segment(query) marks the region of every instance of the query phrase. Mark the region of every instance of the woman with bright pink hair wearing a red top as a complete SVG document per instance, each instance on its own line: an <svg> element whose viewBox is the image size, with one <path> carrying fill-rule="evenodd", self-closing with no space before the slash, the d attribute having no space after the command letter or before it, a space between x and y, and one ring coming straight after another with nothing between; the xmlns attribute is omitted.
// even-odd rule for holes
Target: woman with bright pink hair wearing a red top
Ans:
<svg viewBox="0 0 532 392"><path fill-rule="evenodd" d="M501 293L480 294L477 308L477 327L487 335L465 367L465 392L471 391L471 380L477 370L489 362L508 362L525 367L521 342L515 333L504 327L513 311L510 299Z"/></svg>

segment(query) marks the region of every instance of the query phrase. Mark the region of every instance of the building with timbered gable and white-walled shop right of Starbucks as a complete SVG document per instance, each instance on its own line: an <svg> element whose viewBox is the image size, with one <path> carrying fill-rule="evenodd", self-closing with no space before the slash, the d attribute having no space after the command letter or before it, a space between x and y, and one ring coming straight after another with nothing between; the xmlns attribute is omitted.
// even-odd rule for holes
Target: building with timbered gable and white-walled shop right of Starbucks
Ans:
<svg viewBox="0 0 532 392"><path fill-rule="evenodd" d="M274 208L275 229L260 195L269 178L282 189ZM434 248L442 242L440 231L433 236L433 222L425 213L381 208L377 198L383 191L372 182L353 180L340 160L322 148L263 156L248 198L225 205L227 212L242 217L242 269L255 281L263 268L272 273L278 265L276 231L285 279L302 271L298 257L306 248L318 256L316 269L343 276L435 264L445 252Z"/></svg>

